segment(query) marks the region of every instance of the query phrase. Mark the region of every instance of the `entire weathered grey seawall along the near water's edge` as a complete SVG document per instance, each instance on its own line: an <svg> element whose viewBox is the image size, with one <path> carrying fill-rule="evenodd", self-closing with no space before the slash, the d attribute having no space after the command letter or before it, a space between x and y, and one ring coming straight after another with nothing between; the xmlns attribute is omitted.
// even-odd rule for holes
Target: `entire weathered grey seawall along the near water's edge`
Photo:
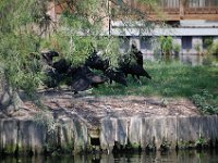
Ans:
<svg viewBox="0 0 218 163"><path fill-rule="evenodd" d="M183 149L216 147L218 142L217 116L105 117L96 129L88 128L76 116L59 118L56 123L50 129L34 120L1 118L0 154L111 151L113 147Z"/></svg>

